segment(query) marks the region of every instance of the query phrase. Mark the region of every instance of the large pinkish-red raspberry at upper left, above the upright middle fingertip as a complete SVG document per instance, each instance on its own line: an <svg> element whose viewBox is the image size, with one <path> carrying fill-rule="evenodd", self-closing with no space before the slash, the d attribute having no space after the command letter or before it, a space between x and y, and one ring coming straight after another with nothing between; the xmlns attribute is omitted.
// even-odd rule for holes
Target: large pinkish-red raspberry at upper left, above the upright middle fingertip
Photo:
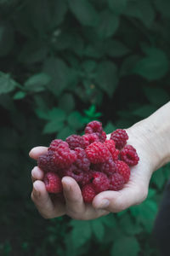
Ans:
<svg viewBox="0 0 170 256"><path fill-rule="evenodd" d="M68 143L62 142L55 148L53 160L58 168L65 168L77 160L77 154L69 148Z"/></svg>

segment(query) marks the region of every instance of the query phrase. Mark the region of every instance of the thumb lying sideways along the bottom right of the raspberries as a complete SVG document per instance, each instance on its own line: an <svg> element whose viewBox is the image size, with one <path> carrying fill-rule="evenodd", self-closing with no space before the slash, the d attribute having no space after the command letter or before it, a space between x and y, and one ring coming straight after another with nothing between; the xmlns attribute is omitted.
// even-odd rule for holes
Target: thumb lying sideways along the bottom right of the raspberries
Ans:
<svg viewBox="0 0 170 256"><path fill-rule="evenodd" d="M121 212L144 201L147 193L147 188L141 186L125 187L120 191L105 191L94 198L93 206L110 212Z"/></svg>

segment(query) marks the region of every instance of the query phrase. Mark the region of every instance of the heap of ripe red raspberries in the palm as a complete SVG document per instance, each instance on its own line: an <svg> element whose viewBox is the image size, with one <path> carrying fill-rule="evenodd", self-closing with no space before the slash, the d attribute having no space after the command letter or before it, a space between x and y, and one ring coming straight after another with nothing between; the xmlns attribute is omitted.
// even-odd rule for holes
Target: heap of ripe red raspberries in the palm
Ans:
<svg viewBox="0 0 170 256"><path fill-rule="evenodd" d="M128 182L130 166L139 162L136 149L127 145L127 132L117 129L106 139L99 121L88 123L85 134L55 139L48 153L37 160L44 172L48 193L62 195L62 177L73 177L82 190L83 200L93 201L105 190L120 190Z"/></svg>

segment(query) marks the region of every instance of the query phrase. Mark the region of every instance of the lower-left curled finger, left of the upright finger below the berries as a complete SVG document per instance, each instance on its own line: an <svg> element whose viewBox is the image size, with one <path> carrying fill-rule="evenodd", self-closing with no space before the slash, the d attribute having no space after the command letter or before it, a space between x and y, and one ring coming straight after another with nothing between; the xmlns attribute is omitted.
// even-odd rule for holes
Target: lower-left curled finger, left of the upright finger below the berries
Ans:
<svg viewBox="0 0 170 256"><path fill-rule="evenodd" d="M65 206L60 202L56 202L54 206L42 181L37 180L33 183L31 199L43 218L55 218L65 214Z"/></svg>

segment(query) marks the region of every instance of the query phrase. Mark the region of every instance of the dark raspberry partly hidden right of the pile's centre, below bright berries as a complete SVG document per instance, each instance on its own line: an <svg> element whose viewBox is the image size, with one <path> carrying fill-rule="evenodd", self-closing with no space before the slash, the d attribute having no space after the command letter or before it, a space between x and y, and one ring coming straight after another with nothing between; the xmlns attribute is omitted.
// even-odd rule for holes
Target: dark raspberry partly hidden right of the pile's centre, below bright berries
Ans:
<svg viewBox="0 0 170 256"><path fill-rule="evenodd" d="M105 163L95 165L94 169L98 172L105 172L105 174L110 176L116 172L116 164L114 163L113 159L110 158L109 160L105 161Z"/></svg>

